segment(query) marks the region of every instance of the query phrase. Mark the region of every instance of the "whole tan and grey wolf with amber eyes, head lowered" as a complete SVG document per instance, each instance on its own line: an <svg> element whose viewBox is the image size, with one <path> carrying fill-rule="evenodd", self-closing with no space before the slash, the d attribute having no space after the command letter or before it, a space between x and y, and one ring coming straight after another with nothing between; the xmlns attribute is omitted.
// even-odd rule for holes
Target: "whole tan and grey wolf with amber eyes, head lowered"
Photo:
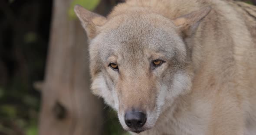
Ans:
<svg viewBox="0 0 256 135"><path fill-rule="evenodd" d="M256 6L126 0L75 6L92 92L133 135L256 135Z"/></svg>

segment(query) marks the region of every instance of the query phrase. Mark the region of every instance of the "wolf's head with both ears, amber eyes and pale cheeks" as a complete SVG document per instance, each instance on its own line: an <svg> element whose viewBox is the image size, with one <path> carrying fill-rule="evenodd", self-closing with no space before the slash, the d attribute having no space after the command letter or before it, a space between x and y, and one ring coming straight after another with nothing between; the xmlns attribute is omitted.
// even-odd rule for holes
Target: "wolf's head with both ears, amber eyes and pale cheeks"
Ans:
<svg viewBox="0 0 256 135"><path fill-rule="evenodd" d="M92 92L118 112L124 129L151 129L178 96L190 93L186 41L209 12L168 19L138 9L105 18L75 6L90 41Z"/></svg>

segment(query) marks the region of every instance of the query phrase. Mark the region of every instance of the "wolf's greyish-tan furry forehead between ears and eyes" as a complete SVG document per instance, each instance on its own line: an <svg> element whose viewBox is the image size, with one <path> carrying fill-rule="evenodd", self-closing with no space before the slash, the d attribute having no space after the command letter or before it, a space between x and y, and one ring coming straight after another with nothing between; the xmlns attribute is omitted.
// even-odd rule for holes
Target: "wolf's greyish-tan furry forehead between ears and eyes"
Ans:
<svg viewBox="0 0 256 135"><path fill-rule="evenodd" d="M90 51L98 51L103 58L124 53L141 55L145 50L159 52L167 58L177 53L186 55L184 42L174 24L157 14L110 18L90 43Z"/></svg>

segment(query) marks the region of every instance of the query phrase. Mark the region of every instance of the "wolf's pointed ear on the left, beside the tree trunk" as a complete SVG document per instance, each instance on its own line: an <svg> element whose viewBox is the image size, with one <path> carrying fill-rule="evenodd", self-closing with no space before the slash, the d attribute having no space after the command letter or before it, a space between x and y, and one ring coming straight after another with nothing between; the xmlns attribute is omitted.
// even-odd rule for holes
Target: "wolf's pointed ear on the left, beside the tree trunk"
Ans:
<svg viewBox="0 0 256 135"><path fill-rule="evenodd" d="M98 27L105 24L107 19L97 13L92 13L80 5L75 5L75 14L82 23L89 39L98 35Z"/></svg>

